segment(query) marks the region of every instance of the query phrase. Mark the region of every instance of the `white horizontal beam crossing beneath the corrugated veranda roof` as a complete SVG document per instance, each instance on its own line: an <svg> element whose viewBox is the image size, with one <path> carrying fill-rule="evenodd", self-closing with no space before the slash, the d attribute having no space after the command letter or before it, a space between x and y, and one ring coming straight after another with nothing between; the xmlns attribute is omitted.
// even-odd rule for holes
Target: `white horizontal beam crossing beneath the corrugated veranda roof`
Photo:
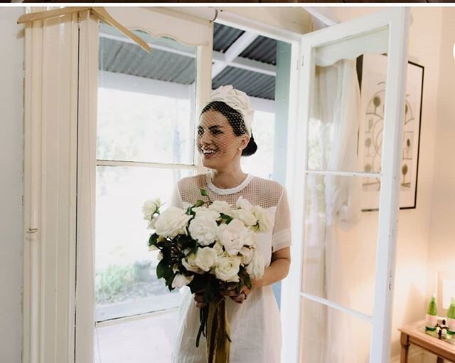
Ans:
<svg viewBox="0 0 455 363"><path fill-rule="evenodd" d="M131 41L129 38L124 38L123 36L116 36L113 34L100 32L100 37L112 39L113 41L122 41L124 43L134 44L134 42ZM159 49L160 51L166 51L169 53L178 54L180 56L196 58L196 53L192 53L189 51L181 51L181 50L178 50L175 48L171 48L170 46L166 46L165 43L161 43L161 44L149 43L149 46L151 46L152 51L154 49ZM240 53L242 53L242 51L240 51ZM226 52L226 53L228 53L228 52ZM226 53L213 51L213 62L215 62L213 67L215 67L216 64L222 63L224 65L224 67L221 70L223 70L227 66L230 66L230 67L241 68L241 69L250 70L252 72L262 73L262 74L266 74L266 75L273 75L273 76L277 75L275 65L268 64L268 63L262 63L259 61L253 61L251 59L242 58L239 56L236 56L232 61L229 62ZM215 78L215 76L213 75L213 71L212 71L212 78Z"/></svg>

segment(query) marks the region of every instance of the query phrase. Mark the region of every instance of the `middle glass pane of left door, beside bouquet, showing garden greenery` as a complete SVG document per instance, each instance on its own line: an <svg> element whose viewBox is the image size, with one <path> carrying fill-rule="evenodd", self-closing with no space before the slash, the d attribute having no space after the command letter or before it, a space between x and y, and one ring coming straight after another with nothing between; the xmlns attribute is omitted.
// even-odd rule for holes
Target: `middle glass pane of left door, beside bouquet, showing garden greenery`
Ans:
<svg viewBox="0 0 455 363"><path fill-rule="evenodd" d="M169 293L156 279L156 252L149 252L141 206L146 199L171 201L176 182L193 174L183 169L97 167L96 320L177 307L180 293Z"/></svg>

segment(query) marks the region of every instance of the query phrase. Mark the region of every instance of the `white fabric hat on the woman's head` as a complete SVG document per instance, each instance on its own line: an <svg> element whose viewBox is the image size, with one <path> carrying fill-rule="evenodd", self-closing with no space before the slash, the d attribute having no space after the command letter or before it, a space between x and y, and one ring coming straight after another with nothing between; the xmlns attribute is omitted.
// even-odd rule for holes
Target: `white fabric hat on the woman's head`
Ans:
<svg viewBox="0 0 455 363"><path fill-rule="evenodd" d="M213 90L210 95L210 102L221 101L240 112L245 122L245 127L249 135L251 135L251 125L255 110L250 107L250 98L245 92L236 90L232 85L222 85L220 88Z"/></svg>

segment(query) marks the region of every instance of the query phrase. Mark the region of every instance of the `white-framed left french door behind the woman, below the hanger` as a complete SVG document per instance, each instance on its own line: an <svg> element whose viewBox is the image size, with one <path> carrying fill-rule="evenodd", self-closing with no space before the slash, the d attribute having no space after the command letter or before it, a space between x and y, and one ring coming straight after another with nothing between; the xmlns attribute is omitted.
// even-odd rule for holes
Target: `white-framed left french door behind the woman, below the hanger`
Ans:
<svg viewBox="0 0 455 363"><path fill-rule="evenodd" d="M77 363L143 360L132 354L150 345L142 319L178 306L178 293L154 288L141 205L168 203L175 181L199 171L196 115L211 89L213 23L165 8L107 10L151 54L111 26L82 22Z"/></svg>

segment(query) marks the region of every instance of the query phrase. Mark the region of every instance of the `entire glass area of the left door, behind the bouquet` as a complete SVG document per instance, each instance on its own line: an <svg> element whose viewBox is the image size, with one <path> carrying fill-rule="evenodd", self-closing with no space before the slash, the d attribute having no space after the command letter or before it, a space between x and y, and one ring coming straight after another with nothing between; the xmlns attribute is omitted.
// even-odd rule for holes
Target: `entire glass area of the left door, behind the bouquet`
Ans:
<svg viewBox="0 0 455 363"><path fill-rule="evenodd" d="M156 278L141 207L159 197L166 209L196 171L197 46L136 33L150 54L100 26L95 362L169 361L181 303Z"/></svg>

